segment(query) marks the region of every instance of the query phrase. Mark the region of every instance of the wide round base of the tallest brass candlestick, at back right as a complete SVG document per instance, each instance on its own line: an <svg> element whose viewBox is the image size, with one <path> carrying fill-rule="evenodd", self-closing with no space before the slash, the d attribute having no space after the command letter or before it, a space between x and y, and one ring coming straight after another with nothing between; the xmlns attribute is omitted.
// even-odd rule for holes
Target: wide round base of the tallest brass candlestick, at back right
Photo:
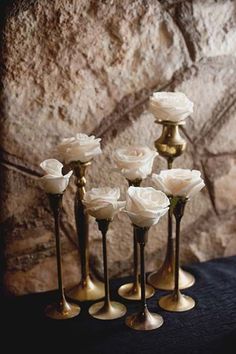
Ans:
<svg viewBox="0 0 236 354"><path fill-rule="evenodd" d="M149 275L148 283L151 284L155 289L174 290L174 268L171 265L164 263L158 271ZM182 268L179 268L179 289L182 290L190 288L194 285L194 283L194 276Z"/></svg>

